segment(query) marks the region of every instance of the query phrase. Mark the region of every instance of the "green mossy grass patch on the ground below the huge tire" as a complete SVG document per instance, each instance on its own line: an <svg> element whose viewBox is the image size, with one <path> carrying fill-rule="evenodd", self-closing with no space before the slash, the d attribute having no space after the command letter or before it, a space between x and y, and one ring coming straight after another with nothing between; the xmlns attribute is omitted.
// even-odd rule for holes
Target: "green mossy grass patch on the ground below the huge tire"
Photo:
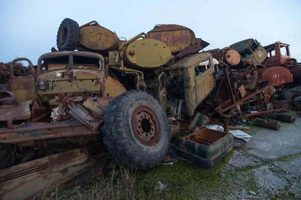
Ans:
<svg viewBox="0 0 301 200"><path fill-rule="evenodd" d="M211 168L179 160L154 169L139 171L135 183L137 199L223 199L240 188L258 190L253 171L234 171L227 163L234 150ZM235 187L233 187L235 184Z"/></svg>

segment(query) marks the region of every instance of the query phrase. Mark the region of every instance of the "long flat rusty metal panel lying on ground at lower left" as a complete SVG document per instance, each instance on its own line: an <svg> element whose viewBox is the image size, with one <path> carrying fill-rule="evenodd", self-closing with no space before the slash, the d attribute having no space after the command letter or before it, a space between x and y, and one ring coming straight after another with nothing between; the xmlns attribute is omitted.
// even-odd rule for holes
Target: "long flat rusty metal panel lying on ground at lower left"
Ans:
<svg viewBox="0 0 301 200"><path fill-rule="evenodd" d="M95 163L83 147L3 169L0 171L0 198L33 198L72 179Z"/></svg>

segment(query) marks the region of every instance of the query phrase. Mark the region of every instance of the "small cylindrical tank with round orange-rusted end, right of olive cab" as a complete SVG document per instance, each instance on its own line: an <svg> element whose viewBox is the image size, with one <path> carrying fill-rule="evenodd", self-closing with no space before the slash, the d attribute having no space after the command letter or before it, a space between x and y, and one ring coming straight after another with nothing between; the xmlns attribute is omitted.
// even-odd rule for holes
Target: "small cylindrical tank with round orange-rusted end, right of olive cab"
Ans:
<svg viewBox="0 0 301 200"><path fill-rule="evenodd" d="M235 66L240 61L240 54L233 49L220 51L218 53L213 53L212 57L218 61L222 61L229 66Z"/></svg>

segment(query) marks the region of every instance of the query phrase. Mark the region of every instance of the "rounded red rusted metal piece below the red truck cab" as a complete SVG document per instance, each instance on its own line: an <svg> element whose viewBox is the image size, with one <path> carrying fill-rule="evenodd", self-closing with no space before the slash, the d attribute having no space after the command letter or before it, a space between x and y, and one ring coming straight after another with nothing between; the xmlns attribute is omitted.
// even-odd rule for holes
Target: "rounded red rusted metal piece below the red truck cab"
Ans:
<svg viewBox="0 0 301 200"><path fill-rule="evenodd" d="M259 78L268 81L273 86L280 86L286 82L292 82L290 71L282 66L272 66L257 69Z"/></svg>

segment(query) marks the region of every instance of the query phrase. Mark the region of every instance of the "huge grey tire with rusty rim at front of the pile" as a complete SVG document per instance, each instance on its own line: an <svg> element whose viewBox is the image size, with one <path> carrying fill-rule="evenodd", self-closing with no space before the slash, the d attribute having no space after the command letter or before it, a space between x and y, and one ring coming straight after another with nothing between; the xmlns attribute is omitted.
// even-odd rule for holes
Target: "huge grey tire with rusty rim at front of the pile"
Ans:
<svg viewBox="0 0 301 200"><path fill-rule="evenodd" d="M152 95L141 90L124 92L110 102L104 118L103 142L120 164L148 169L165 159L170 128L166 113Z"/></svg>

